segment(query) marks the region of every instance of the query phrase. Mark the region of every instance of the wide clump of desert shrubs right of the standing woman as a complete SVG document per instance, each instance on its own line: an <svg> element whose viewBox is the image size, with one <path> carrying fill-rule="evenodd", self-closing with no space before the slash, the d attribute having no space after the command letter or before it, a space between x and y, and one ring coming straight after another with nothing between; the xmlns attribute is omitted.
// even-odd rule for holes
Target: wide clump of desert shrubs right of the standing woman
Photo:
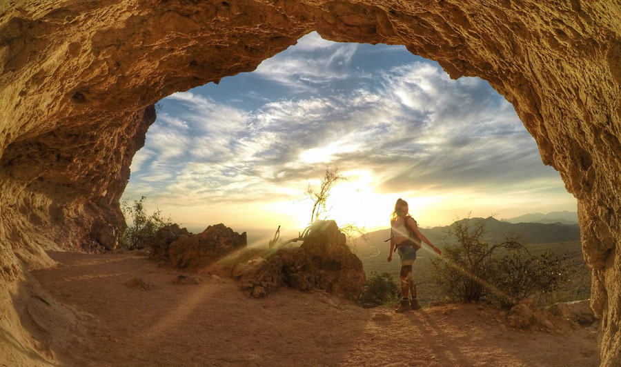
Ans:
<svg viewBox="0 0 621 367"><path fill-rule="evenodd" d="M432 260L435 282L449 299L500 301L510 307L535 292L549 292L567 279L566 261L549 252L533 257L515 238L491 244L484 239L486 219L455 221L442 257Z"/></svg>

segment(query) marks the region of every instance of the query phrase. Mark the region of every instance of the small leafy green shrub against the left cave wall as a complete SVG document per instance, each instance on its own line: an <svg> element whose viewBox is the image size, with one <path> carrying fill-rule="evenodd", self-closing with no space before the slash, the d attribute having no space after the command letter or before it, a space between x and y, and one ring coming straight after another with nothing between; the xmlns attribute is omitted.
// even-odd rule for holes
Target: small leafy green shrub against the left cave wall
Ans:
<svg viewBox="0 0 621 367"><path fill-rule="evenodd" d="M132 226L128 226L121 236L121 245L135 250L149 246L150 241L155 237L155 233L159 228L172 224L170 217L161 216L159 209L155 210L151 215L147 215L144 208L146 197L140 200L134 200L130 205L128 200L121 203L121 210L126 219L132 219Z"/></svg>

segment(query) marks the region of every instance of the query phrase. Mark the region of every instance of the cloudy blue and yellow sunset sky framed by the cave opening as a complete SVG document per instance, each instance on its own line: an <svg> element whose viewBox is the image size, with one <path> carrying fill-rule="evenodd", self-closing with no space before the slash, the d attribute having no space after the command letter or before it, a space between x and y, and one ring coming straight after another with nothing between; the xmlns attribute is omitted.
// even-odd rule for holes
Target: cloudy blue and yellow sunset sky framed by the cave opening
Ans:
<svg viewBox="0 0 621 367"><path fill-rule="evenodd" d="M159 102L124 199L190 228L302 230L326 169L345 179L322 218L389 226L397 198L423 228L576 211L511 103L404 46L315 32L257 70Z"/></svg>

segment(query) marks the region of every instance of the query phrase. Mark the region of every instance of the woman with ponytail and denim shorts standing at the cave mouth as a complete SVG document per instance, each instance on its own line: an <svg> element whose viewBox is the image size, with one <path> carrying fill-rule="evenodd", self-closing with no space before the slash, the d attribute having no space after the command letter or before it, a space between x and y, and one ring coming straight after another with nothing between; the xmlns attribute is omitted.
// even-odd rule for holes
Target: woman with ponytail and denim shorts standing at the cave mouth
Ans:
<svg viewBox="0 0 621 367"><path fill-rule="evenodd" d="M403 199L397 199L395 211L391 218L391 252L388 254L388 262L393 259L393 250L397 247L397 252L401 258L401 273L399 281L401 283L401 306L395 310L397 313L404 313L409 310L418 310L420 304L416 299L416 284L412 279L412 264L416 259L416 250L421 246L421 241L433 248L437 255L442 252L425 237L414 218L408 215L408 203ZM411 293L412 300L408 299L408 292Z"/></svg>

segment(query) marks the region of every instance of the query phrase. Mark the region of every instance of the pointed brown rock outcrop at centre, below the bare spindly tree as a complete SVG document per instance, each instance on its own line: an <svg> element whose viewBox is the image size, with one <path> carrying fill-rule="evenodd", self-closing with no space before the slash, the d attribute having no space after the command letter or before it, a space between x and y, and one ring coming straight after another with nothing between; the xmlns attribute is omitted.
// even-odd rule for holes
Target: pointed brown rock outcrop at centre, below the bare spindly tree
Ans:
<svg viewBox="0 0 621 367"><path fill-rule="evenodd" d="M357 299L366 276L362 261L345 241L335 221L316 221L299 248L274 250L264 261L250 260L254 264L239 270L239 284L253 297L265 297L288 285L299 290L319 288Z"/></svg>

